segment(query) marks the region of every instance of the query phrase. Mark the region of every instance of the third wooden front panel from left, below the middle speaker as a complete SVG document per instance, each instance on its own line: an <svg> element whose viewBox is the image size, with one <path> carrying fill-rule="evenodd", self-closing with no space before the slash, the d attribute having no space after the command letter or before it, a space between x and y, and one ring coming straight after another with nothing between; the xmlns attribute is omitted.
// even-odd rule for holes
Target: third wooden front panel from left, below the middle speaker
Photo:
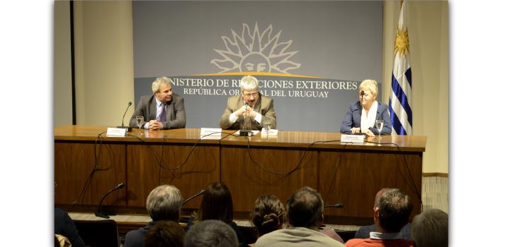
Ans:
<svg viewBox="0 0 510 247"><path fill-rule="evenodd" d="M254 161L276 173L285 173L298 163L302 150L251 147ZM260 195L273 194L285 203L302 186L317 188L317 152L309 151L300 167L281 176L263 171L251 161L246 147L222 147L222 181L229 187L234 211L250 212Z"/></svg>

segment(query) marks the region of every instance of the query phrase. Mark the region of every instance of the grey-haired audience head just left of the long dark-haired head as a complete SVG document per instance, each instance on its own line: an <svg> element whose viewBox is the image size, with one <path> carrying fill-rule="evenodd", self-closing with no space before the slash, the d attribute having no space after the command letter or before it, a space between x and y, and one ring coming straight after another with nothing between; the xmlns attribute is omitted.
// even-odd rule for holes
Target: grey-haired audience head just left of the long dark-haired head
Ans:
<svg viewBox="0 0 510 247"><path fill-rule="evenodd" d="M147 212L154 222L173 220L179 222L181 215L181 191L171 185L154 188L147 196Z"/></svg>

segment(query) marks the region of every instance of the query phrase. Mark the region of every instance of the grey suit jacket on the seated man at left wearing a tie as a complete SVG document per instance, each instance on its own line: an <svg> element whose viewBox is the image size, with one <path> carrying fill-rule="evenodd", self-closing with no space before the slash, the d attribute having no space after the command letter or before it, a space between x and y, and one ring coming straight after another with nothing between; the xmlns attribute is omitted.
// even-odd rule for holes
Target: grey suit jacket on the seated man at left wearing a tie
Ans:
<svg viewBox="0 0 510 247"><path fill-rule="evenodd" d="M162 129L186 127L186 110L184 99L181 95L174 93L170 102L166 102L166 122L163 122ZM138 128L135 116L144 116L144 123L156 119L156 99L154 95L140 97L135 113L131 116L130 127Z"/></svg>

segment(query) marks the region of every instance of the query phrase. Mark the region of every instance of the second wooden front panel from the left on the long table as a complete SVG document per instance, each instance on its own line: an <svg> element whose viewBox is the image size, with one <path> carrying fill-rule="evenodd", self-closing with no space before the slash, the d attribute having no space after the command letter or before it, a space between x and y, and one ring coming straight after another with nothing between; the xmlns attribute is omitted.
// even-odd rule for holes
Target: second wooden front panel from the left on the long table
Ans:
<svg viewBox="0 0 510 247"><path fill-rule="evenodd" d="M149 148L150 147L150 148ZM128 145L128 206L145 207L152 189L159 186L159 162L162 166L179 167L186 160L191 145ZM198 145L188 162L179 169L162 169L161 184L179 188L183 199L191 197L212 183L220 181L219 147ZM189 201L184 208L198 208L200 198Z"/></svg>

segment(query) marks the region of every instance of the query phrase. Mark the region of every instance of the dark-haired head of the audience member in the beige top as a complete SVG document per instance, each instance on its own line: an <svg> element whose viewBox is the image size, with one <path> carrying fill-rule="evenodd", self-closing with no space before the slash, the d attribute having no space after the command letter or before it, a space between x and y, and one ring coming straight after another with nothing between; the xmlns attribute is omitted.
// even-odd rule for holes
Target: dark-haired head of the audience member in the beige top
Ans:
<svg viewBox="0 0 510 247"><path fill-rule="evenodd" d="M292 227L318 227L323 210L321 195L310 187L300 188L287 200L288 221Z"/></svg>

